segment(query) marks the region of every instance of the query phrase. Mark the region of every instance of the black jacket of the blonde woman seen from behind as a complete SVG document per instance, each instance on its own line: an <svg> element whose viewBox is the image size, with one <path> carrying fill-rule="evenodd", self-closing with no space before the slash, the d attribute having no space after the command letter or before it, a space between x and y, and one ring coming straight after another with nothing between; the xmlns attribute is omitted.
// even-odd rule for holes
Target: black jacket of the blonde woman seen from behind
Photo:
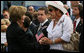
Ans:
<svg viewBox="0 0 84 53"><path fill-rule="evenodd" d="M22 30L19 25L12 22L6 32L9 52L29 52L35 50L34 38L31 31Z"/></svg>

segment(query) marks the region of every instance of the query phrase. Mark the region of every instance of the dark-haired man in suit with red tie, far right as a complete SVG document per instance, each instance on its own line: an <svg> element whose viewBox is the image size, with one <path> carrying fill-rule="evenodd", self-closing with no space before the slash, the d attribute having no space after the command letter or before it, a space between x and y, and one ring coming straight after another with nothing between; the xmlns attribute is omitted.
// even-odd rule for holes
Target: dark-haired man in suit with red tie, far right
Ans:
<svg viewBox="0 0 84 53"><path fill-rule="evenodd" d="M73 15L75 16L74 24L74 31L77 31L79 34L81 32L81 18L80 18L80 11L83 9L82 4L78 4L73 7Z"/></svg>

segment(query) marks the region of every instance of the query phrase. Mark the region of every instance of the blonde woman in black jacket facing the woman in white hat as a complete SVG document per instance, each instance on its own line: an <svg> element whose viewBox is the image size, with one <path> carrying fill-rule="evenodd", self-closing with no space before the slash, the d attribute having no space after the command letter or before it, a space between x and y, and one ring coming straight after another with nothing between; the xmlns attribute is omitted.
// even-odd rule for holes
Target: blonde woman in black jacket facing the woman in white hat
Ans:
<svg viewBox="0 0 84 53"><path fill-rule="evenodd" d="M33 34L28 28L30 19L25 16L26 11L27 9L23 6L9 8L12 22L6 32L8 52L31 52L34 50Z"/></svg>

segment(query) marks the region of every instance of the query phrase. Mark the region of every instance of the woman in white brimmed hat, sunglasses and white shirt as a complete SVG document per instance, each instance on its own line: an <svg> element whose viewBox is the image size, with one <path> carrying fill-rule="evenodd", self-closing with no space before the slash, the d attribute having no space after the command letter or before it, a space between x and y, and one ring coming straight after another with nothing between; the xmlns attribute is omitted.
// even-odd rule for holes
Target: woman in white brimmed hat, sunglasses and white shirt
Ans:
<svg viewBox="0 0 84 53"><path fill-rule="evenodd" d="M73 33L73 24L67 10L61 1L46 1L46 6L52 14L52 21L47 27L48 38L43 37L39 40L40 44L49 44L50 52L64 50L63 42L69 42Z"/></svg>

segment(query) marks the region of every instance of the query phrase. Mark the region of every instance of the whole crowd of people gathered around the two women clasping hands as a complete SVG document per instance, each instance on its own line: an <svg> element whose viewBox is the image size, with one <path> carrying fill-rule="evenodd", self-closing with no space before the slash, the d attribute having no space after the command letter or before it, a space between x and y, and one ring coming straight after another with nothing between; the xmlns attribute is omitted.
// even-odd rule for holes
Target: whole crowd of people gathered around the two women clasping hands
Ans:
<svg viewBox="0 0 84 53"><path fill-rule="evenodd" d="M46 7L10 6L3 10L1 32L6 32L4 45L8 52L65 51L62 43L70 42L73 32L80 34L79 50L83 50L83 4L70 1L46 1Z"/></svg>

